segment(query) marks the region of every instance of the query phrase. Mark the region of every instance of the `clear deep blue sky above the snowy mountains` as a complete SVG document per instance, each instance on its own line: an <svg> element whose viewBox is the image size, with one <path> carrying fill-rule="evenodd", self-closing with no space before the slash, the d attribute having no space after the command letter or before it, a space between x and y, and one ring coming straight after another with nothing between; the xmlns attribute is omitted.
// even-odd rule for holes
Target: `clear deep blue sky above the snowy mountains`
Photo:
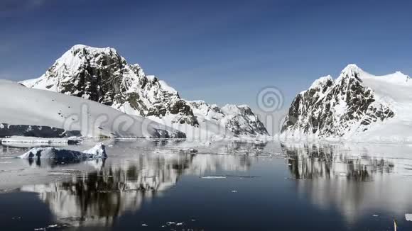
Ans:
<svg viewBox="0 0 412 231"><path fill-rule="evenodd" d="M114 47L183 98L289 103L349 63L412 75L411 1L1 0L0 78L39 77L72 45Z"/></svg>

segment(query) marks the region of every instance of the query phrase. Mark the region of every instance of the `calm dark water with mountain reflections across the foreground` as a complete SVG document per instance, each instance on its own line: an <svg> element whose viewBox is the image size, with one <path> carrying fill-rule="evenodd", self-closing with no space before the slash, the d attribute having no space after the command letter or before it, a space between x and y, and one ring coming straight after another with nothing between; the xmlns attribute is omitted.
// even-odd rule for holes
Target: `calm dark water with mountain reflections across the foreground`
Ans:
<svg viewBox="0 0 412 231"><path fill-rule="evenodd" d="M0 146L1 230L412 230L410 146L104 142L72 164Z"/></svg>

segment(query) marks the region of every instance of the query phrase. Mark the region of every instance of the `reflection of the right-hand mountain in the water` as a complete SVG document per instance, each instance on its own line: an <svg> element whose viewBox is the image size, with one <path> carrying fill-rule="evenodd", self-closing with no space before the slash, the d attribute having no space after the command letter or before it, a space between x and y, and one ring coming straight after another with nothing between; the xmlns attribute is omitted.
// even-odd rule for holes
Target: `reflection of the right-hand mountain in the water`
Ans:
<svg viewBox="0 0 412 231"><path fill-rule="evenodd" d="M349 223L374 210L403 216L412 208L412 185L399 179L411 176L412 159L390 158L389 151L389 158L381 157L380 148L391 150L379 145L282 145L300 197L321 209L339 210Z"/></svg>

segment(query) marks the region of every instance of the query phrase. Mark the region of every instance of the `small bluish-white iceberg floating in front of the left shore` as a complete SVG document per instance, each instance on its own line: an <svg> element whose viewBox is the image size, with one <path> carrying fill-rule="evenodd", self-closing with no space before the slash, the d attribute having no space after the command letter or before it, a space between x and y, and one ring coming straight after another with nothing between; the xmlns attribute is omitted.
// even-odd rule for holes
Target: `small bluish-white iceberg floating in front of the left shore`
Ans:
<svg viewBox="0 0 412 231"><path fill-rule="evenodd" d="M95 145L90 150L83 152L65 150L55 147L34 147L30 151L18 156L20 159L55 159L57 161L73 161L86 159L107 158L106 149L103 144Z"/></svg>

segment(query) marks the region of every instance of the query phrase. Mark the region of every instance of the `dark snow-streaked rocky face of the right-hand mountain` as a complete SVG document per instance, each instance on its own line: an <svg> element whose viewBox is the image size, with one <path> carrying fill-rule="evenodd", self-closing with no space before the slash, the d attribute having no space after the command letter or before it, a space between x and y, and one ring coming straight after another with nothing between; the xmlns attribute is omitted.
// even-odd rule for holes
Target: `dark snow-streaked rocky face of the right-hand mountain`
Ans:
<svg viewBox="0 0 412 231"><path fill-rule="evenodd" d="M323 77L293 99L281 133L298 131L319 137L342 137L366 131L377 121L395 116L374 91L362 85L359 70L348 66L333 81Z"/></svg>

